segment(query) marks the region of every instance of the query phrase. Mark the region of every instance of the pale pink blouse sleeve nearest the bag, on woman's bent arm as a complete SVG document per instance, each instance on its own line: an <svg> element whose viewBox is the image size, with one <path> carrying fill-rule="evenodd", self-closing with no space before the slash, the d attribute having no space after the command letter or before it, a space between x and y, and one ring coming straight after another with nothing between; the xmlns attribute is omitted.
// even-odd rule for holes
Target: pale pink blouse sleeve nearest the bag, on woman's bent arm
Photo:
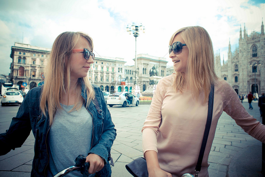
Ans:
<svg viewBox="0 0 265 177"><path fill-rule="evenodd" d="M142 128L143 134L143 153L147 150L154 150L157 152L157 131L161 123L161 107L166 93L166 89L172 85L169 77L162 78L153 94L153 99L147 114L144 126Z"/></svg>

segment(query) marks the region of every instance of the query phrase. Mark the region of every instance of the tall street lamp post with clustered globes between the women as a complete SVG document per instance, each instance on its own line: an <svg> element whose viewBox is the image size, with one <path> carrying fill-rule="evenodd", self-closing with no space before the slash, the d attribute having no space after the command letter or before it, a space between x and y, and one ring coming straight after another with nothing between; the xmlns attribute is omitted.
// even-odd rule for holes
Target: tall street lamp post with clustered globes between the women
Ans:
<svg viewBox="0 0 265 177"><path fill-rule="evenodd" d="M135 26L134 23L132 23L131 27L129 27L130 24L127 25L126 27L126 31L129 32L130 34L133 34L133 36L135 37L135 84L136 87L138 85L137 83L137 55L136 55L136 38L140 35L140 30L143 31L143 33L145 33L145 27L142 25L142 23L140 23L140 25Z"/></svg>

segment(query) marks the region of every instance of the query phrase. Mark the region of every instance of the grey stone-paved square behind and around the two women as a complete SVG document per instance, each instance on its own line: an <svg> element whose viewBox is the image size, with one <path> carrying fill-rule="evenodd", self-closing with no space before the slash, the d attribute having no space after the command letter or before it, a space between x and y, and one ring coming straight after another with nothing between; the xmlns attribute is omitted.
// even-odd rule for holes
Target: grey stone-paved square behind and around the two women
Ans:
<svg viewBox="0 0 265 177"><path fill-rule="evenodd" d="M253 110L248 109L247 102L243 102L243 105L258 121L262 121L257 101L252 103ZM141 128L149 107L150 105L126 108L120 106L108 107L112 115L112 121L117 129L117 137L111 150L111 156L115 164L112 167L113 177L131 177L125 169L125 165L143 155ZM9 114L13 117L16 111ZM7 114L3 108L0 109L0 113L0 132L4 132L8 129L11 117L6 117ZM259 172L261 171L261 144L261 142L252 138L237 126L231 117L223 113L218 121L209 156L209 175L211 177L232 175L262 176ZM34 137L31 133L21 148L11 150L8 154L0 156L0 176L29 177L34 156L33 151ZM242 171L242 168L248 174ZM235 175L237 172L238 174Z"/></svg>

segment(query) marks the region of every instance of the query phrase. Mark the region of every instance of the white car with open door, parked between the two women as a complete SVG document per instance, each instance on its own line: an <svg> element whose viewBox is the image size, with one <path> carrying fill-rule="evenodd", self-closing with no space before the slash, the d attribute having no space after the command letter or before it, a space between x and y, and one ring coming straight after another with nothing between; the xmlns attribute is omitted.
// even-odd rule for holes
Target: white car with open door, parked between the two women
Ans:
<svg viewBox="0 0 265 177"><path fill-rule="evenodd" d="M122 105L122 107L126 107L128 105L125 95L129 94L129 101L131 102L131 105L138 106L140 103L140 100L132 95L132 93L129 92L116 92L112 95L108 96L107 105L112 107L113 105Z"/></svg>

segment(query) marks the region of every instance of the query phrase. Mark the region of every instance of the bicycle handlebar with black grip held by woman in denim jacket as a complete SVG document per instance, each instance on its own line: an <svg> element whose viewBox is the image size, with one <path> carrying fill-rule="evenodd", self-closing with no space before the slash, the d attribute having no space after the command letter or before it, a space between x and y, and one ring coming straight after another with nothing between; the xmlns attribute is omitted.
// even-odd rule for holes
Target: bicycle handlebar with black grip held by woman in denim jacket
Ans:
<svg viewBox="0 0 265 177"><path fill-rule="evenodd" d="M63 177L72 171L80 171L83 174L83 177L88 177L90 174L88 173L88 168L90 164L86 162L86 157L84 155L79 155L75 158L75 165L69 168L66 168L56 174L54 177Z"/></svg>

